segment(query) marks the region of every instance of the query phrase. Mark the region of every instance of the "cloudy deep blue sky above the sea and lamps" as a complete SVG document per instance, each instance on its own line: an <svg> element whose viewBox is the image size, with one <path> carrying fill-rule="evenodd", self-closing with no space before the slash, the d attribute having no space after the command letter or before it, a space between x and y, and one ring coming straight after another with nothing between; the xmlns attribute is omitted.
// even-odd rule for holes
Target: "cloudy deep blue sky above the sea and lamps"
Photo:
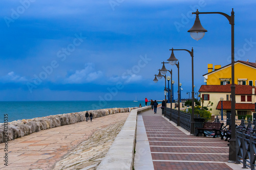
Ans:
<svg viewBox="0 0 256 170"><path fill-rule="evenodd" d="M200 14L208 32L196 41L187 32L196 17L191 12L230 15L232 8L235 61L255 62L254 0L2 0L0 101L163 100L164 79L153 79L172 47L194 48L198 92L207 64L231 63L231 26L220 14ZM181 98L188 98L191 57L174 54ZM173 70L177 99L178 69L165 67Z"/></svg>

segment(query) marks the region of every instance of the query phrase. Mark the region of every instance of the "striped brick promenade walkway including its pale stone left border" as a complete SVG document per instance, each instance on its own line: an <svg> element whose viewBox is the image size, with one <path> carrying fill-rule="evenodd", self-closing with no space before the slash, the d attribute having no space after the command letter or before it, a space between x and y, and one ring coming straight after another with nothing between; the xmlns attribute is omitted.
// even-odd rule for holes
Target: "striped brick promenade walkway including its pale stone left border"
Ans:
<svg viewBox="0 0 256 170"><path fill-rule="evenodd" d="M227 141L190 135L161 113L159 108L157 114L138 114L135 170L242 169L227 163Z"/></svg>

